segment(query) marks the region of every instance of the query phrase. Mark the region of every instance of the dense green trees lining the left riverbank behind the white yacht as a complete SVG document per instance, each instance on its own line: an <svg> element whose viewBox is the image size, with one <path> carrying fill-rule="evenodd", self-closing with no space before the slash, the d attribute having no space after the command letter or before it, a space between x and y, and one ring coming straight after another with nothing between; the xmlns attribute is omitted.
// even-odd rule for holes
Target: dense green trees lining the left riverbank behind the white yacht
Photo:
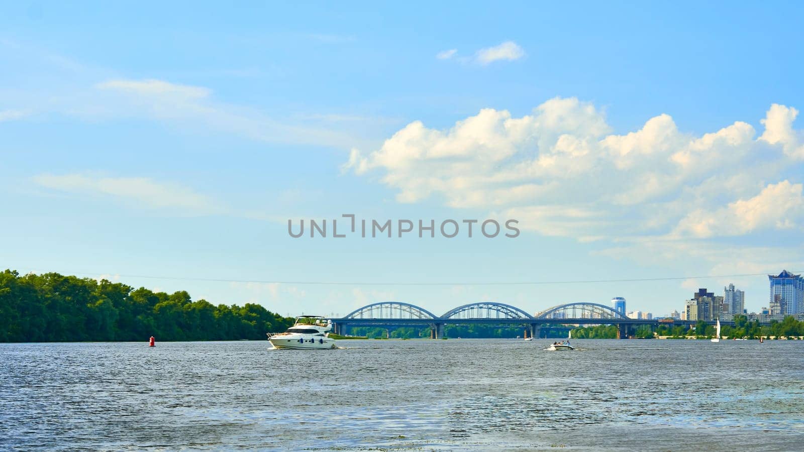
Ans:
<svg viewBox="0 0 804 452"><path fill-rule="evenodd" d="M119 282L0 273L0 342L265 339L293 324L264 307L214 306Z"/></svg>

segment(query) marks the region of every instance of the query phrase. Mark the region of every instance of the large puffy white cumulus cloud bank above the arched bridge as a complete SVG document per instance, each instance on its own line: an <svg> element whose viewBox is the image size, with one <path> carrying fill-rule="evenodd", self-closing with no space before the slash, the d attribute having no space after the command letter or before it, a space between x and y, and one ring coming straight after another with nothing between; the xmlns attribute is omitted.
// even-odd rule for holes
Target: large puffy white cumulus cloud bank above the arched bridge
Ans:
<svg viewBox="0 0 804 452"><path fill-rule="evenodd" d="M591 103L555 98L448 129L413 121L369 154L353 149L342 170L379 173L402 203L494 210L548 236L741 235L801 223L802 185L779 177L797 164L794 113L774 105L760 138L744 121L687 133L668 114L612 134Z"/></svg>

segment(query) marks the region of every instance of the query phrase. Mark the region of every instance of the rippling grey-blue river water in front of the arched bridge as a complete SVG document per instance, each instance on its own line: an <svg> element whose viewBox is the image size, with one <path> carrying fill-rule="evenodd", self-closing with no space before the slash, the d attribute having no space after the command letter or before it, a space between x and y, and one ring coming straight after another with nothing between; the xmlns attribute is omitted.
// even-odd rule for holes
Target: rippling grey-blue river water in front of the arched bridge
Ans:
<svg viewBox="0 0 804 452"><path fill-rule="evenodd" d="M0 344L3 450L804 450L804 342Z"/></svg>

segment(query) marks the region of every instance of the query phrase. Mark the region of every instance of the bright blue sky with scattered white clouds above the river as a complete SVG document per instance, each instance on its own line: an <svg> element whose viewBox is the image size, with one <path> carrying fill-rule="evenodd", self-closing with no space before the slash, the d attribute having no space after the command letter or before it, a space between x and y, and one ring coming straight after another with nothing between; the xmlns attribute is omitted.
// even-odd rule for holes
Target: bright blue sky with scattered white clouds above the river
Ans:
<svg viewBox="0 0 804 452"><path fill-rule="evenodd" d="M802 7L0 7L0 266L282 314L628 299L804 270ZM516 218L515 239L286 221ZM338 286L152 279L340 281ZM461 282L673 281L469 286ZM395 286L384 282L438 282Z"/></svg>

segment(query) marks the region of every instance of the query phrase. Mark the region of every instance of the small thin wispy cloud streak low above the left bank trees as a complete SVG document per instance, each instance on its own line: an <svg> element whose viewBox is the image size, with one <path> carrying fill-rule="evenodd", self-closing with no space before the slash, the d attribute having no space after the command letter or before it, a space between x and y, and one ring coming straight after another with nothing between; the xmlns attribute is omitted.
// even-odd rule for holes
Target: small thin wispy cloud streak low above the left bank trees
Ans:
<svg viewBox="0 0 804 452"><path fill-rule="evenodd" d="M72 193L109 195L146 208L178 208L185 212L212 214L223 212L205 195L174 183L158 183L148 178L93 177L89 175L37 175L42 187Z"/></svg>

